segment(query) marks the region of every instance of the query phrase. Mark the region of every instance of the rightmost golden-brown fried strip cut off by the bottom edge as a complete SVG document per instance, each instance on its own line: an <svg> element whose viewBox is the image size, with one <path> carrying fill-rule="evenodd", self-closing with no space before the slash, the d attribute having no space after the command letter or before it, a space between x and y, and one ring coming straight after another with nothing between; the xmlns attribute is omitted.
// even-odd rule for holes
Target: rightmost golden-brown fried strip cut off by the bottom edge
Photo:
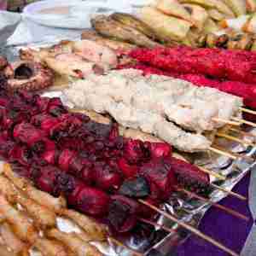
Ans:
<svg viewBox="0 0 256 256"><path fill-rule="evenodd" d="M47 236L65 243L67 247L78 256L102 256L102 253L100 253L96 247L91 246L90 243L84 242L75 233L64 233L54 229L49 230Z"/></svg>

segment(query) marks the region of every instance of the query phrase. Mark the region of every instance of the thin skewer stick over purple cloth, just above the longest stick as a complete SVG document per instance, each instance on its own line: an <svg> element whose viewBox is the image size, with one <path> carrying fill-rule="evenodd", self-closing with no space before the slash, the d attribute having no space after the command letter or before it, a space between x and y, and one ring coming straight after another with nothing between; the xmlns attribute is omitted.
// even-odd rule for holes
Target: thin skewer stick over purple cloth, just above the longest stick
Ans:
<svg viewBox="0 0 256 256"><path fill-rule="evenodd" d="M240 218L242 220L249 221L249 218L247 216L241 214L240 212L236 212L235 210L232 210L232 209L230 209L228 207L224 207L224 206L222 206L222 205L220 205L220 204L218 204L218 203L216 203L214 201L211 201L211 200L209 200L209 199L207 199L207 198L205 198L205 197L203 197L201 195L197 195L197 194L195 194L193 192L190 192L190 191L188 191L186 189L177 188L177 191L181 191L181 192L185 193L186 195L195 197L195 198L197 198L197 199L199 199L201 201L205 201L205 202L211 204L212 207L216 207L216 208L218 208L218 209L220 209L220 210L222 210L224 212L227 212L227 213L229 213L230 215L232 215L232 216L234 216L236 218Z"/></svg>

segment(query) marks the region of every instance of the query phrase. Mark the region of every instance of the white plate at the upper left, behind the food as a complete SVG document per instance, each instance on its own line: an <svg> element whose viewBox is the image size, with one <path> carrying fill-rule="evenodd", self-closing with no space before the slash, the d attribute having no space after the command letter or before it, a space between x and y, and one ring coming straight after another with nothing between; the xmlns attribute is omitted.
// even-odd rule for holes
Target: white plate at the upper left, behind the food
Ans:
<svg viewBox="0 0 256 256"><path fill-rule="evenodd" d="M53 9L57 13L49 13ZM115 11L131 13L132 8L123 1L45 0L27 5L23 15L43 26L84 29L90 27L93 15Z"/></svg>

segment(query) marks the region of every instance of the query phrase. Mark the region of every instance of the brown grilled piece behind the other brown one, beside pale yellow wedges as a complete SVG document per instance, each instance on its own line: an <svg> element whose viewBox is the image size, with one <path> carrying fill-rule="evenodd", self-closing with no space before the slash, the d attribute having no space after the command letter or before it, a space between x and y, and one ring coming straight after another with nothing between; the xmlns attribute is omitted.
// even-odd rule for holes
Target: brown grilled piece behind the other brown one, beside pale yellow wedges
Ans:
<svg viewBox="0 0 256 256"><path fill-rule="evenodd" d="M146 35L148 38L151 38L152 40L156 39L156 35L154 31L151 29L151 27L148 26L146 23L144 23L142 20L137 19L133 15L123 14L123 13L114 13L110 17L113 20L117 20L126 26L133 27L138 32L143 33L144 35Z"/></svg>

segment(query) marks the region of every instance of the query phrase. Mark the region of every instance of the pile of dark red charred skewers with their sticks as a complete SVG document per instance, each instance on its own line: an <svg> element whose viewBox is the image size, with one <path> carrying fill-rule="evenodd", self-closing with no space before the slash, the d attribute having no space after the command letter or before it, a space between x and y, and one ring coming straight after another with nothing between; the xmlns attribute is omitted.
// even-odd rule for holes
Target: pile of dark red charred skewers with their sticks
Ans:
<svg viewBox="0 0 256 256"><path fill-rule="evenodd" d="M84 114L68 113L58 98L21 91L11 95L2 83L0 152L21 176L52 195L65 195L70 207L107 220L115 231L127 232L141 221L159 227L151 220L150 208L237 255L159 208L175 190L208 201L204 193L212 184L206 172L213 172L177 160L166 143L120 137L116 125L103 125ZM232 195L244 200L241 195ZM55 233L50 232L49 236L55 237Z"/></svg>

